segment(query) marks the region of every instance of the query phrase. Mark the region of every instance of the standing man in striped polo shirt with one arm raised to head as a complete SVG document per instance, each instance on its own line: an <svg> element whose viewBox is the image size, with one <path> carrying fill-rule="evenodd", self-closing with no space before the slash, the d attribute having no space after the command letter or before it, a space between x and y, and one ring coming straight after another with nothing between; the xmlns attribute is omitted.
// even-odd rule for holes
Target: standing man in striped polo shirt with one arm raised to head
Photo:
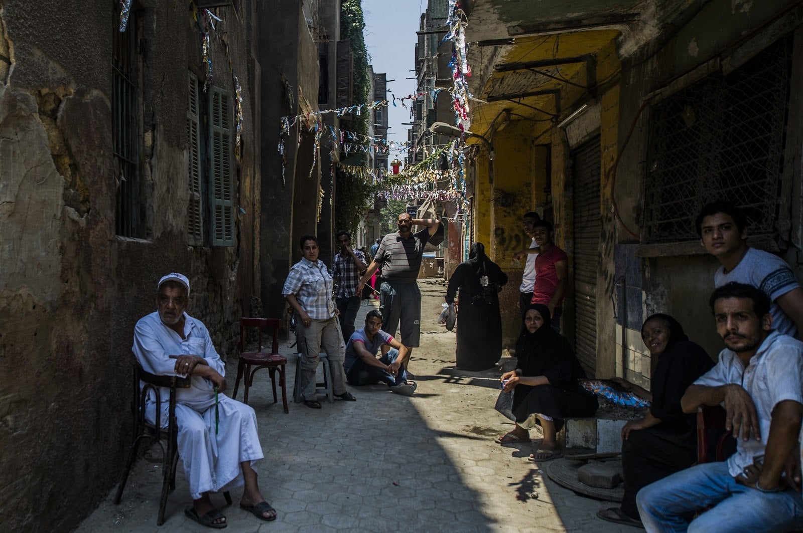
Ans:
<svg viewBox="0 0 803 533"><path fill-rule="evenodd" d="M412 218L409 213L399 214L398 231L382 238L377 254L357 284L357 295L362 295L362 287L371 279L377 268L382 267L382 284L379 294L379 308L382 311L382 329L390 336L396 335L399 321L402 322L402 344L410 348L418 347L421 336L421 291L418 290L418 271L424 246L438 230L441 221L437 218ZM425 226L413 233L413 226Z"/></svg>

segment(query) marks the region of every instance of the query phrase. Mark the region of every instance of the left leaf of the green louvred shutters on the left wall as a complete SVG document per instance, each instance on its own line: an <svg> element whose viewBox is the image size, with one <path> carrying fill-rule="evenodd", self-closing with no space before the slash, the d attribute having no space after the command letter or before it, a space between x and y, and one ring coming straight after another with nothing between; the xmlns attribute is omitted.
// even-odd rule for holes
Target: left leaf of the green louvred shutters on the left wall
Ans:
<svg viewBox="0 0 803 533"><path fill-rule="evenodd" d="M201 121L198 110L198 78L190 72L187 90L187 185L190 200L187 204L187 242L203 246L203 216L201 208Z"/></svg>

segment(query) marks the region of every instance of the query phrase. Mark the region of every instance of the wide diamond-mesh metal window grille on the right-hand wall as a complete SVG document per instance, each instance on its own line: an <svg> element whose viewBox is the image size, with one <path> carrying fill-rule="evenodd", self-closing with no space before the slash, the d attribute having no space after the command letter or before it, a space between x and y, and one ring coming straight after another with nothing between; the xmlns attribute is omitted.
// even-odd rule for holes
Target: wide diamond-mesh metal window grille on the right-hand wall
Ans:
<svg viewBox="0 0 803 533"><path fill-rule="evenodd" d="M746 210L752 235L777 233L791 59L781 39L650 108L642 242L696 240L717 199Z"/></svg>

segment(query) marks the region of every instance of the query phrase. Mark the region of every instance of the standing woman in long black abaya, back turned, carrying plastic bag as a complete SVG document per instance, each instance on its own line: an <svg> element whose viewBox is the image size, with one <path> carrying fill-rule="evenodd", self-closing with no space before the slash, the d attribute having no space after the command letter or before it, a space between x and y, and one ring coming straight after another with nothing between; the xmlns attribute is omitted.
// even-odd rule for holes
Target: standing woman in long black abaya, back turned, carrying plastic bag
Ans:
<svg viewBox="0 0 803 533"><path fill-rule="evenodd" d="M502 356L502 319L499 317L499 291L507 275L487 258L482 242L471 246L467 261L454 269L446 288L446 303L454 302L460 289L457 323L457 368L493 368Z"/></svg>

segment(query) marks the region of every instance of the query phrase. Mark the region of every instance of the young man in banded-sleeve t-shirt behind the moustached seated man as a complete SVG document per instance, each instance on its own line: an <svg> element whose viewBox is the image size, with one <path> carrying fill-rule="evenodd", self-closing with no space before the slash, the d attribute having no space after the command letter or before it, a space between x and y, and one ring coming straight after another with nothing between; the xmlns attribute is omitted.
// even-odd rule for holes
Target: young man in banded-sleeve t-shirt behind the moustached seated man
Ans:
<svg viewBox="0 0 803 533"><path fill-rule="evenodd" d="M714 201L703 206L696 224L700 242L722 263L714 275L714 286L735 281L764 291L772 302L772 327L800 338L803 289L783 259L748 246L744 212L728 201Z"/></svg>

